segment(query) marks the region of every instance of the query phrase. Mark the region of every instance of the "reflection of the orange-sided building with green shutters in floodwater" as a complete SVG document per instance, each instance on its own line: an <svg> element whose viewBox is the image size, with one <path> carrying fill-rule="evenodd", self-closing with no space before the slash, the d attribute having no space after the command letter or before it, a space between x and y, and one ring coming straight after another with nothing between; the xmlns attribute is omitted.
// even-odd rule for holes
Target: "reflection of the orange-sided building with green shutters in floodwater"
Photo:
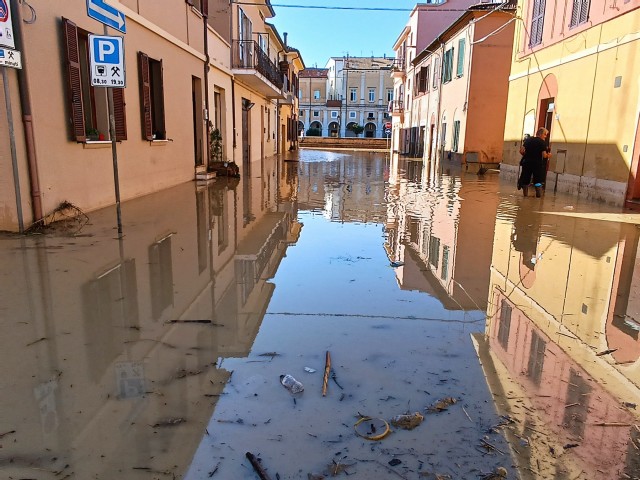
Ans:
<svg viewBox="0 0 640 480"><path fill-rule="evenodd" d="M430 176L425 168L401 160L391 175L385 248L404 263L398 281L446 308L483 310L497 201L476 175Z"/></svg>

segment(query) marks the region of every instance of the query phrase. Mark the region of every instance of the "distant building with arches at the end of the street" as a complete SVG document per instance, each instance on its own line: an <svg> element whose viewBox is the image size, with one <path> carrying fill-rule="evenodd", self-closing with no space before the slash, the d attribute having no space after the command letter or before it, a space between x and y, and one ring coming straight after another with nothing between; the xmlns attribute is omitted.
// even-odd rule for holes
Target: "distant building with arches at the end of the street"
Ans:
<svg viewBox="0 0 640 480"><path fill-rule="evenodd" d="M387 57L332 57L325 68L302 72L299 128L305 134L320 130L323 137L355 137L352 127L360 125L363 137L385 138L392 64Z"/></svg>

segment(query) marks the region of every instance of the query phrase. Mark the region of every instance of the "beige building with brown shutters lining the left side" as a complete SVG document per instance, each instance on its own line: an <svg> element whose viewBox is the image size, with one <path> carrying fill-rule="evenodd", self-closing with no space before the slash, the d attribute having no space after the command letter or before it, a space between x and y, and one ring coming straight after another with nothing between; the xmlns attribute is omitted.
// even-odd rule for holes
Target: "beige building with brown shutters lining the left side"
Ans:
<svg viewBox="0 0 640 480"><path fill-rule="evenodd" d="M215 129L218 159L241 175L295 148L304 64L266 23L269 0L109 0L126 20L124 35L108 31L124 44L126 86L110 89L115 149L109 89L90 81L89 35L105 27L82 0L42 2L34 21L26 5L11 5L23 68L7 72L2 95L13 115L12 125L0 115L0 230L27 228L63 202L92 211L113 205L116 191L124 201L211 177Z"/></svg>

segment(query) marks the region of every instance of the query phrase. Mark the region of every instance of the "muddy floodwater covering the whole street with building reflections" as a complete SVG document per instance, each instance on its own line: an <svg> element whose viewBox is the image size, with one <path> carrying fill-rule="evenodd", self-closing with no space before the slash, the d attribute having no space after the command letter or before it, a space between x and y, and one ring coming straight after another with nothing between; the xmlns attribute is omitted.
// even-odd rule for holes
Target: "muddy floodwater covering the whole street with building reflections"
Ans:
<svg viewBox="0 0 640 480"><path fill-rule="evenodd" d="M640 478L638 215L284 160L0 236L0 478Z"/></svg>

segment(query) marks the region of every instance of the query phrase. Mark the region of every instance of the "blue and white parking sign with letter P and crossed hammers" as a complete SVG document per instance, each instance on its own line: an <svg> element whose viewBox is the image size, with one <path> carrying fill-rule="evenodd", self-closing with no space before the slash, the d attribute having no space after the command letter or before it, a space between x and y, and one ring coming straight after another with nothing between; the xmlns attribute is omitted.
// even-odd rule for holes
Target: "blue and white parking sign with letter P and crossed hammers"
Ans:
<svg viewBox="0 0 640 480"><path fill-rule="evenodd" d="M124 39L110 35L89 35L89 68L94 87L124 88Z"/></svg>

